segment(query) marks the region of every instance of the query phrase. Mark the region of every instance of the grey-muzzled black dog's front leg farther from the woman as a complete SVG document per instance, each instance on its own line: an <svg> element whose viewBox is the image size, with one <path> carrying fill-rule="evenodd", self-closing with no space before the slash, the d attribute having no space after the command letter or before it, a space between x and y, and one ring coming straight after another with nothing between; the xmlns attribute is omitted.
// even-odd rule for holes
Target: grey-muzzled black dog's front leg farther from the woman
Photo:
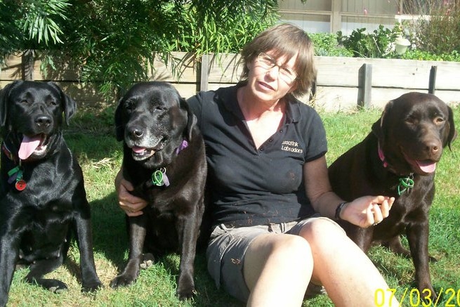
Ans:
<svg viewBox="0 0 460 307"><path fill-rule="evenodd" d="M140 263L143 261L143 247L147 228L147 214L129 217L129 259L123 273L110 282L110 287L117 288L131 285L139 275Z"/></svg>

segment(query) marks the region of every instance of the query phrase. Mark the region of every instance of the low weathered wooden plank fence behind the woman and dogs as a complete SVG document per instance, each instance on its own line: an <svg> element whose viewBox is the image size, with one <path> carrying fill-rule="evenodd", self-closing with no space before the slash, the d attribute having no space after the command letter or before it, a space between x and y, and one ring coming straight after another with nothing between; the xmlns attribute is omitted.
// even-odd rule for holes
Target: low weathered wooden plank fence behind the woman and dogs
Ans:
<svg viewBox="0 0 460 307"><path fill-rule="evenodd" d="M236 84L242 71L239 55L204 55L197 60L190 53L174 53L176 74L161 60L154 63L150 78L169 81L183 97L197 91L217 89ZM57 63L58 70L40 72L39 61L32 61L29 70L24 59L11 56L1 67L0 86L29 74L34 80L53 80L79 104L93 106L114 103L105 101L98 91L98 82L82 84L72 67ZM357 105L383 107L388 100L408 91L428 92L431 89L446 103L460 102L460 63L419 60L387 60L367 58L316 57L317 80L313 96L302 97L305 103L326 111L350 110Z"/></svg>

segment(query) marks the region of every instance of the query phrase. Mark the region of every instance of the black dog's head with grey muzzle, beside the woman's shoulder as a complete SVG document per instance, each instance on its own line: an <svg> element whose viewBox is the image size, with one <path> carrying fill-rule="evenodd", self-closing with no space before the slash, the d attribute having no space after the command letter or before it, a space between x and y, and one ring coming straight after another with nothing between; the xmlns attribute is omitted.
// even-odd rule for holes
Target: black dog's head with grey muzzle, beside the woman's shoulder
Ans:
<svg viewBox="0 0 460 307"><path fill-rule="evenodd" d="M185 99L160 81L133 85L115 111L117 140L147 169L169 164L180 144L192 141L195 123Z"/></svg>

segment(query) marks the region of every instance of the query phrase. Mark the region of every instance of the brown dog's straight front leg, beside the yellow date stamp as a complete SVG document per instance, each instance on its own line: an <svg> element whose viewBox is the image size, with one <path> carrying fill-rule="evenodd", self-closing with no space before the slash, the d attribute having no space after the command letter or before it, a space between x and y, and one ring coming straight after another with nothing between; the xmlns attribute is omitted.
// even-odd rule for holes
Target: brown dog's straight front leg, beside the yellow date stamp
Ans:
<svg viewBox="0 0 460 307"><path fill-rule="evenodd" d="M428 220L419 221L407 226L407 240L415 267L415 281L423 298L435 301L436 292L431 283L430 268L428 266Z"/></svg>

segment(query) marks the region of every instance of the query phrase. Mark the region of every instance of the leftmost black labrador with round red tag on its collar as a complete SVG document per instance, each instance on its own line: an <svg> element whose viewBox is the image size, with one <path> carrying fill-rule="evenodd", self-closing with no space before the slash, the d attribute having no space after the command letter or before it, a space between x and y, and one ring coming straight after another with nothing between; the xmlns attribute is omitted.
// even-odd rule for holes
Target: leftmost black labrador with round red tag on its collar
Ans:
<svg viewBox="0 0 460 307"><path fill-rule="evenodd" d="M72 234L83 290L101 286L83 174L62 132L63 115L68 124L75 110L74 100L53 82L15 81L0 91L0 306L17 264L29 265L27 282L67 289L44 275L63 263Z"/></svg>

